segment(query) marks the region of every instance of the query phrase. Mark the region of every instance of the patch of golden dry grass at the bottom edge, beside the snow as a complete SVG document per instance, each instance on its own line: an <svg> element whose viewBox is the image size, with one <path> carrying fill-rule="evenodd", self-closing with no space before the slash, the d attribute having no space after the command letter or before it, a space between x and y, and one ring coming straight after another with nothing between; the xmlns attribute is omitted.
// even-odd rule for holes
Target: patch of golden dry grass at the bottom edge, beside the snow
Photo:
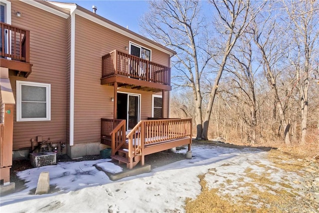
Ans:
<svg viewBox="0 0 319 213"><path fill-rule="evenodd" d="M254 182L264 180L262 177L251 174ZM202 187L201 194L195 199L186 199L186 213L280 213L281 206L289 206L292 202L292 194L285 190L276 191L276 195L270 192L261 192L254 183L244 183L241 187L249 187L247 195L239 195L237 202L231 202L232 196L229 194L220 196L219 189L208 189L205 175L199 176ZM266 180L262 182L267 182ZM269 182L269 180L268 180ZM270 188L269 188L270 189ZM254 195L254 196L253 196ZM254 197L258 199L254 199ZM287 199L281 199L285 196ZM262 201L262 203L261 203ZM268 204L271 204L268 205Z"/></svg>

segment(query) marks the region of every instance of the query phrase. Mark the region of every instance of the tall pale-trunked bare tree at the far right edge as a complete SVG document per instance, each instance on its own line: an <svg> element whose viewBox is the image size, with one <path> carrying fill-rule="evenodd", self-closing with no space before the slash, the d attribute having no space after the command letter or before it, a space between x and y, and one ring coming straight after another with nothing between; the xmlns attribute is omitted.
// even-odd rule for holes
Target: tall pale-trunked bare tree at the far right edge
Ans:
<svg viewBox="0 0 319 213"><path fill-rule="evenodd" d="M296 70L296 81L301 104L301 144L306 143L309 111L310 78L314 71L315 59L319 54L315 49L319 45L319 2L283 1L288 14L288 29L293 36L290 49L290 61Z"/></svg>

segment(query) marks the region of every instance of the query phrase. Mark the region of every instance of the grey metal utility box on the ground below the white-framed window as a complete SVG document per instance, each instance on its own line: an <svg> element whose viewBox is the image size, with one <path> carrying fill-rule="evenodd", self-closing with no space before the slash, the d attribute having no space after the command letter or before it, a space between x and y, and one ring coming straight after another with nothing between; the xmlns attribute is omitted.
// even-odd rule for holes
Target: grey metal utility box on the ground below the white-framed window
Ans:
<svg viewBox="0 0 319 213"><path fill-rule="evenodd" d="M56 153L53 153L53 152L30 153L30 162L33 167L56 165Z"/></svg>

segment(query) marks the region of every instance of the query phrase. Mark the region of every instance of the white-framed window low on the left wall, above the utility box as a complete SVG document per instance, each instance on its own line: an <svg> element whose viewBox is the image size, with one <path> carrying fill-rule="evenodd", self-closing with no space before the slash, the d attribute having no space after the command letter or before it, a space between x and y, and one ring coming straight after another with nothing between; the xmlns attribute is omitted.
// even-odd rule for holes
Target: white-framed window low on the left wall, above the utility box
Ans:
<svg viewBox="0 0 319 213"><path fill-rule="evenodd" d="M51 84L16 81L16 121L51 120Z"/></svg>

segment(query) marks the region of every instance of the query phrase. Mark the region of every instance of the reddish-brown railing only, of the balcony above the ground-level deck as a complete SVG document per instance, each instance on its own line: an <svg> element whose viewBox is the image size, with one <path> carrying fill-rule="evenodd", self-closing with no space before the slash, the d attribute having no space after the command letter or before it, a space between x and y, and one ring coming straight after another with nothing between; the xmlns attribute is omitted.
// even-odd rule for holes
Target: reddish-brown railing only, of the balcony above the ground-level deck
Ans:
<svg viewBox="0 0 319 213"><path fill-rule="evenodd" d="M102 78L122 75L170 85L170 68L118 50L102 56Z"/></svg>

